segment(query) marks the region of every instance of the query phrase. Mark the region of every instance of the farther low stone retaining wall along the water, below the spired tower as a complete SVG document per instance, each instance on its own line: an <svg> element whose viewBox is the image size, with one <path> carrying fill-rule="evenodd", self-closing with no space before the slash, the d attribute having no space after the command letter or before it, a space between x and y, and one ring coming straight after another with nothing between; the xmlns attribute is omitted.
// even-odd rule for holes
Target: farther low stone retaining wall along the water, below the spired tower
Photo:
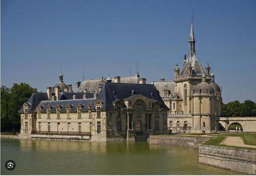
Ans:
<svg viewBox="0 0 256 176"><path fill-rule="evenodd" d="M178 137L178 136L157 136L151 135L149 142L150 144L160 144L160 145L177 145L177 146L187 146L192 148L199 148L199 145L207 141L210 137Z"/></svg>

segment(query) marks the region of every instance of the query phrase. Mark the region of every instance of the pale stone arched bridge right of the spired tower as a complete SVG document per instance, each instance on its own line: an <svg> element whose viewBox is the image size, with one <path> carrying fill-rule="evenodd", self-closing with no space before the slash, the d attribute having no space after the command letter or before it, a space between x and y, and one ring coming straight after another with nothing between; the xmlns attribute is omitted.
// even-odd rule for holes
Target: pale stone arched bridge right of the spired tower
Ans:
<svg viewBox="0 0 256 176"><path fill-rule="evenodd" d="M243 132L256 132L256 117L217 117L217 124L220 131L229 131L231 124L240 124Z"/></svg>

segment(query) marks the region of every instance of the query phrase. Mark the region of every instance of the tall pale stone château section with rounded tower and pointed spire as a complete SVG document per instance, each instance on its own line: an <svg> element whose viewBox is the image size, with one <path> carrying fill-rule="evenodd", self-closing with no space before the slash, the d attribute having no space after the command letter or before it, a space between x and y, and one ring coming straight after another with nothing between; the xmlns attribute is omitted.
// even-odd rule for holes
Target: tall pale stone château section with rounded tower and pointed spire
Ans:
<svg viewBox="0 0 256 176"><path fill-rule="evenodd" d="M201 66L195 52L194 29L191 24L189 54L182 69L176 65L174 81L154 81L168 112L168 129L174 133L201 133L218 130L216 117L221 115L221 88L207 65Z"/></svg>

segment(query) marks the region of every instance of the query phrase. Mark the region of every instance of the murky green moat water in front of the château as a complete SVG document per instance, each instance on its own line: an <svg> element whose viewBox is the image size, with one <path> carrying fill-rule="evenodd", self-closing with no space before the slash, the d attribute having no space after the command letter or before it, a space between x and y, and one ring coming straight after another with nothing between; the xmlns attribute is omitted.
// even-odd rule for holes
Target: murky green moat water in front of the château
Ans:
<svg viewBox="0 0 256 176"><path fill-rule="evenodd" d="M16 168L5 168L7 160ZM242 174L198 163L198 150L147 142L1 139L1 174Z"/></svg>

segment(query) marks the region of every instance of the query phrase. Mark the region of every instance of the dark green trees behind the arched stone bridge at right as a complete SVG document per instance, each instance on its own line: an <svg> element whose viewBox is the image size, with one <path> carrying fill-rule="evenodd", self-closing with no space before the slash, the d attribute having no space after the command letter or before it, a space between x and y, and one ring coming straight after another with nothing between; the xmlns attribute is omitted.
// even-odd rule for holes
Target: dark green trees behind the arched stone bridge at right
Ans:
<svg viewBox="0 0 256 176"><path fill-rule="evenodd" d="M238 100L221 104L222 117L256 117L256 104L251 100L240 103Z"/></svg>

